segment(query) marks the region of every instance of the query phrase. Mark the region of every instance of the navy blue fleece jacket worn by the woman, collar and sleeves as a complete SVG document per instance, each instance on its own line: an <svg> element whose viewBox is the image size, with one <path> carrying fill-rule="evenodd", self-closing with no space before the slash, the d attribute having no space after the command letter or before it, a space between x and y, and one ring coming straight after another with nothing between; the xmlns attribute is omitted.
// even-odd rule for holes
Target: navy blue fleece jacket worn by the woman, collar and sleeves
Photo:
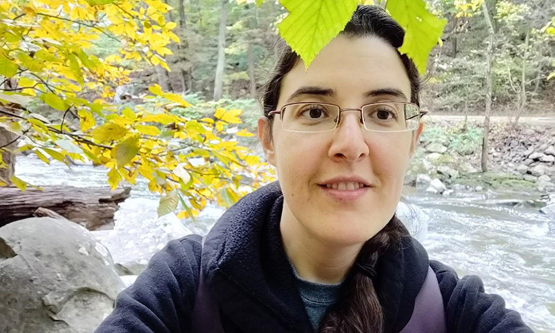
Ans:
<svg viewBox="0 0 555 333"><path fill-rule="evenodd" d="M224 213L202 251L198 235L170 241L119 294L95 332L190 332L201 254L226 332L312 332L281 243L282 203L279 184L264 186ZM440 285L448 332L532 332L500 296L484 292L477 276L459 279L448 266L428 260L412 238L400 245L388 249L376 266L384 333L399 332L410 319L428 265Z"/></svg>

